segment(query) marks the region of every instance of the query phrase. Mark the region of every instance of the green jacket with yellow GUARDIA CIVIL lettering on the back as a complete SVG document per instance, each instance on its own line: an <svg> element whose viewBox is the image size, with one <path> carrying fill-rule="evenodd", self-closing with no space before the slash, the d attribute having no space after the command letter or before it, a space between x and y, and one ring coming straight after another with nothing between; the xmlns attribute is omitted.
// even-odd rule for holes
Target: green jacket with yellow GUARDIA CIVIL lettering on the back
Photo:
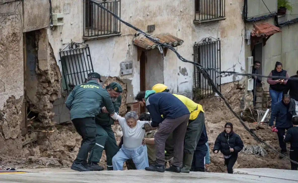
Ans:
<svg viewBox="0 0 298 183"><path fill-rule="evenodd" d="M110 114L115 112L109 93L95 80L75 86L65 104L70 110L71 120L95 117L100 113L101 106L105 106Z"/></svg>

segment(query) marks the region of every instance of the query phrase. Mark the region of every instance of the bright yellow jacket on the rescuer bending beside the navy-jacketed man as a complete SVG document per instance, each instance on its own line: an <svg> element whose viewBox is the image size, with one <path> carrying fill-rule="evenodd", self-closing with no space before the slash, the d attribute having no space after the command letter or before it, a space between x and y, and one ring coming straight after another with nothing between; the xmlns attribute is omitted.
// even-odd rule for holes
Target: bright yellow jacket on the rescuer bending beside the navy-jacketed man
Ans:
<svg viewBox="0 0 298 183"><path fill-rule="evenodd" d="M198 117L201 111L204 112L202 105L195 103L194 101L187 98L186 96L178 95L178 94L173 94L173 95L179 98L179 100L181 100L183 104L186 105L187 109L190 112L189 120L194 120L195 118Z"/></svg>

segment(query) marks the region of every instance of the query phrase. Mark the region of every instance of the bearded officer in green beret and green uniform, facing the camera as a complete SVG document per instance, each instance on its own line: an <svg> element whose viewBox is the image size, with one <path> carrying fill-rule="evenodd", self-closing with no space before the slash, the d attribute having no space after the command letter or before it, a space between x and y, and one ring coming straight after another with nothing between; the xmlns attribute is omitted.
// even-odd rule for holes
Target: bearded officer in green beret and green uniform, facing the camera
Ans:
<svg viewBox="0 0 298 183"><path fill-rule="evenodd" d="M116 113L119 113L119 107L121 105L121 93L122 87L117 82L111 82L105 87L109 93L114 109ZM103 150L105 150L105 156L107 160L107 169L113 170L112 158L118 152L118 146L116 143L115 135L111 125L115 120L107 113L106 107L101 108L101 113L95 117L96 133L95 133L95 145L90 151L88 163L95 171L103 170L103 167L99 166Z"/></svg>

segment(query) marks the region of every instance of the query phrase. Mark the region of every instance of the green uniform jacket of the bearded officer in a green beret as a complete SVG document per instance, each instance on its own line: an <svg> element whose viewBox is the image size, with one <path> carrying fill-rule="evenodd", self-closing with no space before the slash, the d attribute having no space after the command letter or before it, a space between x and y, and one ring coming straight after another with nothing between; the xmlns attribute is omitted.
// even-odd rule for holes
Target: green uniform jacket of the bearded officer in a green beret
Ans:
<svg viewBox="0 0 298 183"><path fill-rule="evenodd" d="M115 102L113 102L115 112L119 114L119 107L121 105L121 95L119 95ZM111 126L114 120L110 117L108 113L100 113L95 117L95 122L100 126Z"/></svg>

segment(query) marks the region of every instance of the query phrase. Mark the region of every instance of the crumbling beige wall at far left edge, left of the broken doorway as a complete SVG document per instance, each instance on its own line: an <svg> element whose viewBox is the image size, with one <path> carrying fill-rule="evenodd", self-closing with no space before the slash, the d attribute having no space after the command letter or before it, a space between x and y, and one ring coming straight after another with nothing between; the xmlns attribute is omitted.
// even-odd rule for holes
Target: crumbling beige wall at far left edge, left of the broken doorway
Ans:
<svg viewBox="0 0 298 183"><path fill-rule="evenodd" d="M17 155L22 148L24 76L21 10L21 1L0 5L0 154Z"/></svg>

